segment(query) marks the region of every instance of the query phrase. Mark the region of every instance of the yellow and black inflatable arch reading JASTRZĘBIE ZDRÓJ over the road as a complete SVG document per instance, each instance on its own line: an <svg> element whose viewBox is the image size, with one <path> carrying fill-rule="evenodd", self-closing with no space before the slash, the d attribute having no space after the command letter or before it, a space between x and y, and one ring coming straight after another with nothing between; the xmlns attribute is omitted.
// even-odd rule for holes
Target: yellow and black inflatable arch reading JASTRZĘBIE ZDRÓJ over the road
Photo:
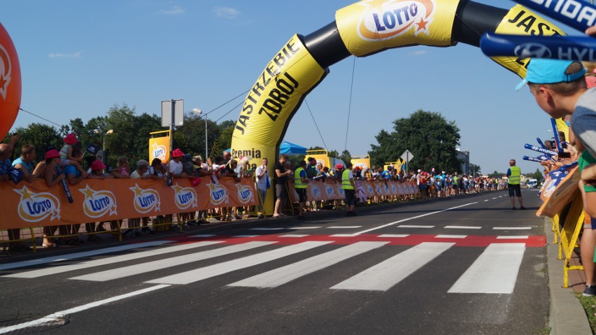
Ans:
<svg viewBox="0 0 596 335"><path fill-rule="evenodd" d="M366 57L409 45L479 45L488 31L532 36L564 35L543 17L517 5L510 10L467 0L363 0L341 8L335 21L307 36L296 34L265 66L246 96L232 136L232 155L268 158L273 177L279 145L292 116L329 66L355 55ZM518 76L526 59L495 57ZM273 190L265 211L273 209Z"/></svg>

